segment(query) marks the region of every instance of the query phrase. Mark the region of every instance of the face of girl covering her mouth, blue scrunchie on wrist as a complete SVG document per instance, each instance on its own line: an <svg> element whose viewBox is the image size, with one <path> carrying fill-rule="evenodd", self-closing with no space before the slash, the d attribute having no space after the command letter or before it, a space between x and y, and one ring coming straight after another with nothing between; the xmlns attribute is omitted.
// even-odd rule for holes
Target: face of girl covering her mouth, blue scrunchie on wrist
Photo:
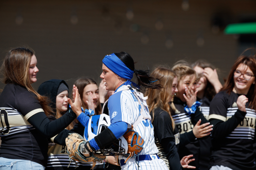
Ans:
<svg viewBox="0 0 256 170"><path fill-rule="evenodd" d="M185 94L185 88L191 87L195 89L196 84L197 82L195 81L194 75L186 75L181 77L177 85L178 92L176 93L176 97L178 97L182 102L186 102L185 98L183 97L183 94Z"/></svg>

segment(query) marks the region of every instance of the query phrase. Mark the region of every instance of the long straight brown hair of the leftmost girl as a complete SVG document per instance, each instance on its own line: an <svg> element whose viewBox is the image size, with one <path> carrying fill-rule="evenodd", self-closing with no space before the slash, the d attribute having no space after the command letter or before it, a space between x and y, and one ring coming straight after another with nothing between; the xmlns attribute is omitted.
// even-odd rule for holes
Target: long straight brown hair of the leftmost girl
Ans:
<svg viewBox="0 0 256 170"><path fill-rule="evenodd" d="M18 47L11 49L5 56L1 66L1 73L4 76L3 83L18 84L34 93L45 115L49 115L52 111L48 106L47 97L39 95L29 81L28 70L33 55L34 51L28 48Z"/></svg>

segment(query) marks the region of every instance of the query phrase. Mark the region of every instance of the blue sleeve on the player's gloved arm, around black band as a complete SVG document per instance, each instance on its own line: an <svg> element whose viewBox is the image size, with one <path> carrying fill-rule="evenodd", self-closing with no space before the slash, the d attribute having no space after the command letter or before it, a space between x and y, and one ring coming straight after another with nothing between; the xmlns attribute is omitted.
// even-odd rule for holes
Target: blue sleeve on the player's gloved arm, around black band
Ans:
<svg viewBox="0 0 256 170"><path fill-rule="evenodd" d="M111 124L108 129L113 133L114 137L110 137L108 136L108 138L111 138L113 139L112 142L114 142L116 139L120 138L126 131L127 131L127 123L125 122L115 122L113 124ZM104 133L105 131L101 132L101 133ZM102 135L102 134L101 134ZM111 140L109 139L109 140ZM100 140L101 141L101 140ZM109 141L105 141L106 143L108 143ZM96 143L95 139L93 138L92 140L89 141L90 143L90 146L93 147L95 150L99 150L99 146L98 144ZM105 146L107 144L104 144L103 141L101 141L101 145Z"/></svg>

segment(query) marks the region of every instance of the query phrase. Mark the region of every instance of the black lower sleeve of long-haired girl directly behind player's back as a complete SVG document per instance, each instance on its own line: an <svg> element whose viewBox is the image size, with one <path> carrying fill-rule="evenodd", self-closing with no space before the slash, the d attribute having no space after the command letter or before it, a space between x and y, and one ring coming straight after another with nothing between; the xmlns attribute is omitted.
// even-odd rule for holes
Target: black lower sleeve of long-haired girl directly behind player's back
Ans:
<svg viewBox="0 0 256 170"><path fill-rule="evenodd" d="M160 144L168 159L170 170L182 170L175 142L171 138L164 138Z"/></svg>

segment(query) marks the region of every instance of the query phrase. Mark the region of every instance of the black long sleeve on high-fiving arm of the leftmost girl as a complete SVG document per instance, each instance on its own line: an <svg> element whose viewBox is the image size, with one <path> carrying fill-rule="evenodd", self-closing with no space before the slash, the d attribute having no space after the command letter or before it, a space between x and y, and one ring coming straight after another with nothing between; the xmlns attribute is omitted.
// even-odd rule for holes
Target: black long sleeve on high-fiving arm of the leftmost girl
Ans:
<svg viewBox="0 0 256 170"><path fill-rule="evenodd" d="M52 122L46 117L44 112L39 112L31 116L27 121L35 127L37 131L42 133L47 138L51 138L58 133L60 133L65 127L67 127L76 118L75 113L70 110L70 112L65 113L59 119Z"/></svg>

